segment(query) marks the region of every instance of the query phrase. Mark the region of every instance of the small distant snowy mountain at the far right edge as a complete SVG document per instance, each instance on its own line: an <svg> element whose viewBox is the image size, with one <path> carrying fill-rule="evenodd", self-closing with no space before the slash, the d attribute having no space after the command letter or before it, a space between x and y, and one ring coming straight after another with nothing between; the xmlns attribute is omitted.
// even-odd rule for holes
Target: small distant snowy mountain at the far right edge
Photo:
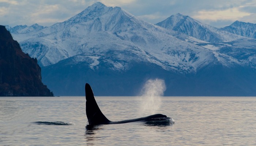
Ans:
<svg viewBox="0 0 256 146"><path fill-rule="evenodd" d="M256 24L236 21L230 26L221 28L233 34L256 39Z"/></svg>

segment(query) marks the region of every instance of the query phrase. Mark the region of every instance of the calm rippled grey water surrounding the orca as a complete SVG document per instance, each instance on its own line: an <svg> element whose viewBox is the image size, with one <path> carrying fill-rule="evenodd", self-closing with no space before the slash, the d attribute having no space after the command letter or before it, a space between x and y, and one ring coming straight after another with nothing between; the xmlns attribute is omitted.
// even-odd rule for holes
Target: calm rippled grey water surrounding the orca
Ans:
<svg viewBox="0 0 256 146"><path fill-rule="evenodd" d="M110 120L147 116L141 97L96 97ZM86 128L84 97L0 97L0 145L256 145L256 97L161 97L171 126ZM64 122L47 125L36 122Z"/></svg>

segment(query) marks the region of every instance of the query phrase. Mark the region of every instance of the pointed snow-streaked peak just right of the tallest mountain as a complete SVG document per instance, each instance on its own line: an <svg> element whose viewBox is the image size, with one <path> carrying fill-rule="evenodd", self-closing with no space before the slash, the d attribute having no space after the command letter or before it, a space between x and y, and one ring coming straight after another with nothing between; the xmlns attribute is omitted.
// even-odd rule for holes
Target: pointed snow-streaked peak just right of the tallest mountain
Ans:
<svg viewBox="0 0 256 146"><path fill-rule="evenodd" d="M222 31L219 28L203 24L189 16L184 16L179 13L170 16L156 25L212 43L231 42L242 38L239 35Z"/></svg>

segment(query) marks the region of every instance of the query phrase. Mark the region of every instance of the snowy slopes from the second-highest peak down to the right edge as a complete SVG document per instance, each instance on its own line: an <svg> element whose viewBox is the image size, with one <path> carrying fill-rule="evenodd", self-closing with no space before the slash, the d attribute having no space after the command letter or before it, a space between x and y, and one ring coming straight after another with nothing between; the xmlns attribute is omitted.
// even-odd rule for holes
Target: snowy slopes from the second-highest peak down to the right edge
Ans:
<svg viewBox="0 0 256 146"><path fill-rule="evenodd" d="M256 59L256 39L225 32L224 30L202 24L189 16L183 16L181 14L172 15L156 25L206 41L200 42L195 39L189 39L189 37L177 36L177 38L211 50L214 53L214 57L223 65L239 64L256 68L256 64L253 61ZM248 55L244 55L246 53Z"/></svg>

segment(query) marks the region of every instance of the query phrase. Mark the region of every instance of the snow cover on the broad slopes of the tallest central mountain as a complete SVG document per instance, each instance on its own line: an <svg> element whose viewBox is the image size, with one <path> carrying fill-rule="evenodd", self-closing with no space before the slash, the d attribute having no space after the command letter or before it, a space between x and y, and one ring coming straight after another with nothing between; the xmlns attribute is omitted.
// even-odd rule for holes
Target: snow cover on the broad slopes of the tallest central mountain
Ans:
<svg viewBox="0 0 256 146"><path fill-rule="evenodd" d="M195 72L214 54L173 37L178 33L147 23L120 7L95 3L69 20L37 32L13 34L23 51L47 66L81 53L132 51L169 70ZM125 56L129 58L129 56Z"/></svg>

